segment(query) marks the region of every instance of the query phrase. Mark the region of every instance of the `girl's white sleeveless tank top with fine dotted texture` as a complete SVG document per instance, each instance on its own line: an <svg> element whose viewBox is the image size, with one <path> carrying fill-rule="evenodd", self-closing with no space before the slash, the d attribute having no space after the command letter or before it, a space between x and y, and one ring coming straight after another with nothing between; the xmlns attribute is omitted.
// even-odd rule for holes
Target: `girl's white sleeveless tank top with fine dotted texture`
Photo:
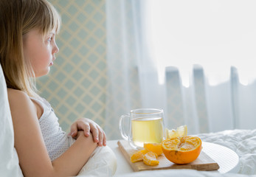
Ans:
<svg viewBox="0 0 256 177"><path fill-rule="evenodd" d="M75 142L75 139L72 136L67 136L66 132L61 130L58 117L56 117L52 106L44 98L42 100L31 98L31 100L35 100L44 109L39 119L39 125L49 158L53 161L64 153Z"/></svg>

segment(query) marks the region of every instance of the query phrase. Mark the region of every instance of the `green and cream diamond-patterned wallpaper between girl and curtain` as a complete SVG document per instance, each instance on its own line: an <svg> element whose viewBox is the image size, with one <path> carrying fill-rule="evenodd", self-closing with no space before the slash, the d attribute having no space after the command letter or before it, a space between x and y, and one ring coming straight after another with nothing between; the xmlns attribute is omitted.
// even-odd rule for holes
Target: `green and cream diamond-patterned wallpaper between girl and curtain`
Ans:
<svg viewBox="0 0 256 177"><path fill-rule="evenodd" d="M50 0L62 18L60 52L48 75L38 78L41 96L55 109L63 131L79 117L104 128L105 0Z"/></svg>

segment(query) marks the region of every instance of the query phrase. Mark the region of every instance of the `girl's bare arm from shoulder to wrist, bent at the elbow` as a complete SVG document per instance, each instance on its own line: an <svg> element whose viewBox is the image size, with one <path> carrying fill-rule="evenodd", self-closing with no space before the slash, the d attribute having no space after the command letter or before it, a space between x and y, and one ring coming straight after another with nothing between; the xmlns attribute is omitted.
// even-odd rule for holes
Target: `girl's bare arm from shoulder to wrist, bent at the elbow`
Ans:
<svg viewBox="0 0 256 177"><path fill-rule="evenodd" d="M75 143L51 162L38 123L37 109L23 91L8 89L15 148L24 176L76 176L97 147L92 136L78 133Z"/></svg>

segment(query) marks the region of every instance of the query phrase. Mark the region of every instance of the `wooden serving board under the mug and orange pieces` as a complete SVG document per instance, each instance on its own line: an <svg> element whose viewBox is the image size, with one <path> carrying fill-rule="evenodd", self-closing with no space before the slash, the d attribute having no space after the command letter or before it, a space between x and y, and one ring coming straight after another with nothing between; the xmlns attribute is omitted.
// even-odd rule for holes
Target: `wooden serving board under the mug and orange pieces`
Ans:
<svg viewBox="0 0 256 177"><path fill-rule="evenodd" d="M148 166L143 162L135 162L132 163L130 161L132 154L136 151L134 150L127 141L120 140L117 142L118 147L120 148L122 154L125 156L125 159L131 165L134 171L142 171L142 170L163 170L163 169L193 169L193 170L201 170L201 171L211 171L218 170L218 164L207 156L204 151L201 151L198 159L190 164L174 164L165 158L165 155L160 155L157 159L159 160L159 164L156 166Z"/></svg>

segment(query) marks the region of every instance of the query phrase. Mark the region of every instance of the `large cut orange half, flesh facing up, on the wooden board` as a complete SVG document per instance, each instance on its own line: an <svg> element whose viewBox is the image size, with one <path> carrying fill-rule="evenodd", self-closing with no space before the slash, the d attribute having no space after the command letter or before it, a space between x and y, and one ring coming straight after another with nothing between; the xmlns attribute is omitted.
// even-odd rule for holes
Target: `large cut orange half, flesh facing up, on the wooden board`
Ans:
<svg viewBox="0 0 256 177"><path fill-rule="evenodd" d="M201 139L197 136L179 136L162 142L165 157L176 164L193 162L201 153L201 148Z"/></svg>

